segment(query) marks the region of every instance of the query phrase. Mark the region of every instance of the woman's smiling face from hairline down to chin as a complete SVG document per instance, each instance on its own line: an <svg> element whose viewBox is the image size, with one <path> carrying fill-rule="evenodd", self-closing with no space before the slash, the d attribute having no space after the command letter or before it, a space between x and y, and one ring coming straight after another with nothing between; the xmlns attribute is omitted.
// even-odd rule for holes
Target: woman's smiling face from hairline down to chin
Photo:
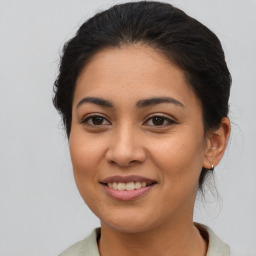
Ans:
<svg viewBox="0 0 256 256"><path fill-rule="evenodd" d="M205 152L200 101L150 47L96 54L74 93L70 153L80 194L102 225L142 232L192 220Z"/></svg>

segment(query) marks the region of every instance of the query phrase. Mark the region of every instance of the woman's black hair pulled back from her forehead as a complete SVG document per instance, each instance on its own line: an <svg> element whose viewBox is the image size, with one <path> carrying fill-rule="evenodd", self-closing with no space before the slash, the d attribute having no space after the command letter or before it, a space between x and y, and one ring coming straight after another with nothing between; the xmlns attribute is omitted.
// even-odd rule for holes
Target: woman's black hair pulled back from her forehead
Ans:
<svg viewBox="0 0 256 256"><path fill-rule="evenodd" d="M88 19L63 48L53 103L69 137L77 78L99 51L141 43L161 52L184 71L200 100L205 131L228 115L231 76L217 36L182 10L161 2L115 5ZM207 170L202 169L202 189Z"/></svg>

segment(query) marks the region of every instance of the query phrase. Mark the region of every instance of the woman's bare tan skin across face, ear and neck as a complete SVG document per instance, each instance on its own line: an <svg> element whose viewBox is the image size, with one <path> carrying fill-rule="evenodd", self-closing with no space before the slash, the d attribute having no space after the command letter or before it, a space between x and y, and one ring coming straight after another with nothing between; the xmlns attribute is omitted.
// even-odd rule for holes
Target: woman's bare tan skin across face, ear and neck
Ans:
<svg viewBox="0 0 256 256"><path fill-rule="evenodd" d="M113 107L77 106L85 97ZM182 105L136 106L152 97ZM95 115L103 118L88 119ZM155 125L152 116L170 121ZM101 220L100 254L206 255L193 225L198 179L202 167L220 161L229 131L223 118L217 130L204 133L201 103L183 71L156 50L138 44L97 53L77 80L69 145L79 192ZM99 183L113 175L140 175L157 184L136 200L120 201Z"/></svg>

